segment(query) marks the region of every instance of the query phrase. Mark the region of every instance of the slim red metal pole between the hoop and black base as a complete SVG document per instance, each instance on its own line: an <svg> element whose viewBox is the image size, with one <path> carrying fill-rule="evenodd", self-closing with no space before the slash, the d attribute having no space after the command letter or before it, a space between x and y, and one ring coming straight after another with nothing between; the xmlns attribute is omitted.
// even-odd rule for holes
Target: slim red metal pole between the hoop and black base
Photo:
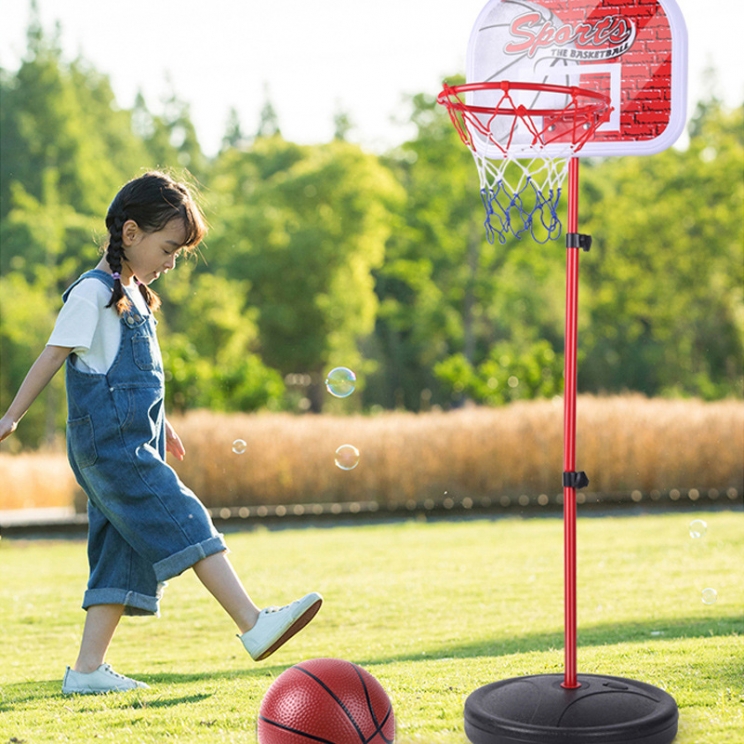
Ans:
<svg viewBox="0 0 744 744"><path fill-rule="evenodd" d="M568 232L579 231L579 160L568 165ZM566 251L566 339L563 389L563 472L576 471L576 355L578 349L579 248ZM576 488L563 488L564 636L563 687L580 687L576 672Z"/></svg>

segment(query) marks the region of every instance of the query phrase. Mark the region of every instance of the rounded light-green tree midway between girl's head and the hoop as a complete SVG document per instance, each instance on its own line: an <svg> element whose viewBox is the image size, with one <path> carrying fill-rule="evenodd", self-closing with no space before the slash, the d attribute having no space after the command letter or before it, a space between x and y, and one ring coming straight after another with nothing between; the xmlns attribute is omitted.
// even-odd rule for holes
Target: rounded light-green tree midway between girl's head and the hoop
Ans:
<svg viewBox="0 0 744 744"><path fill-rule="evenodd" d="M225 175L215 183L231 190L212 239L217 270L250 282L262 358L284 375L310 375L320 410L324 370L362 365L358 344L377 309L371 271L382 264L400 189L374 156L341 141L259 138L217 170Z"/></svg>

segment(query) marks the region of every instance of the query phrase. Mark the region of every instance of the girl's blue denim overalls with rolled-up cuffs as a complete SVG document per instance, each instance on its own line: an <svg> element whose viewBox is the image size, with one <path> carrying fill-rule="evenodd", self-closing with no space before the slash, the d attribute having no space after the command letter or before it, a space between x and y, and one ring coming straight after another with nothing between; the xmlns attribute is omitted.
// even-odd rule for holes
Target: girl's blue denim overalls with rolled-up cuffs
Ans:
<svg viewBox="0 0 744 744"><path fill-rule="evenodd" d="M75 284L86 277L113 290L104 271L89 271ZM81 372L73 355L66 364L67 454L88 496L83 608L119 604L127 615L157 615L165 581L226 546L202 503L165 462L157 321L134 305L120 320L121 344L106 374Z"/></svg>

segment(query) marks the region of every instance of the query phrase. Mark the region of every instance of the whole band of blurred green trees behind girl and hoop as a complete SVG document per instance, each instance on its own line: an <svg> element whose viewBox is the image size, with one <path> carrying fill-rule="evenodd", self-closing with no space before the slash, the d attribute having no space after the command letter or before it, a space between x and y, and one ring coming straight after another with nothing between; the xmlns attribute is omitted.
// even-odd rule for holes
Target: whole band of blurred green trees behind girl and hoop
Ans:
<svg viewBox="0 0 744 744"><path fill-rule="evenodd" d="M0 70L1 409L97 261L114 194L155 167L195 184L211 224L157 287L172 408L320 411L335 365L360 379L344 410L560 394L564 243L486 241L472 158L431 93L384 154L347 141L343 112L332 141L286 141L267 93L255 133L233 112L210 159L188 103L120 108L58 34L32 23ZM583 161L580 390L741 396L742 173L744 106L715 98L684 149ZM54 441L62 400L60 375L15 446Z"/></svg>

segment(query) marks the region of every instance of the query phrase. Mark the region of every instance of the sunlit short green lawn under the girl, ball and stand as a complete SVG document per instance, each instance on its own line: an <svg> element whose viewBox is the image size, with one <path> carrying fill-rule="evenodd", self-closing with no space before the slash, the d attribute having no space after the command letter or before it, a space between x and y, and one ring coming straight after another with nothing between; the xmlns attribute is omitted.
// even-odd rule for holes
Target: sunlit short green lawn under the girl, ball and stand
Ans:
<svg viewBox="0 0 744 744"><path fill-rule="evenodd" d="M694 518L708 525L693 539ZM410 521L228 535L258 604L326 603L265 662L192 572L163 616L124 618L108 661L149 690L61 694L84 613L85 544L0 542L0 744L254 742L261 698L303 659L364 666L388 690L399 744L466 744L463 704L507 677L563 670L562 522ZM579 672L630 677L680 707L675 744L744 742L744 516L579 520ZM702 591L714 588L714 604Z"/></svg>

